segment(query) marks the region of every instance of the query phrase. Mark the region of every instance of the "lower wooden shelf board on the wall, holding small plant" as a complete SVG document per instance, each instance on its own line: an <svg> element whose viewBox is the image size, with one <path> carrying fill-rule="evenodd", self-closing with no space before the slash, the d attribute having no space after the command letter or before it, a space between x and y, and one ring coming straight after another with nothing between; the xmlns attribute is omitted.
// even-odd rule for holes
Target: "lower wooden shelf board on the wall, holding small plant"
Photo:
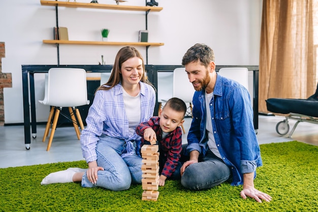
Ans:
<svg viewBox="0 0 318 212"><path fill-rule="evenodd" d="M164 43L148 42L106 42L106 41L67 41L67 40L43 40L46 44L76 44L76 45L108 45L108 46L163 46Z"/></svg>

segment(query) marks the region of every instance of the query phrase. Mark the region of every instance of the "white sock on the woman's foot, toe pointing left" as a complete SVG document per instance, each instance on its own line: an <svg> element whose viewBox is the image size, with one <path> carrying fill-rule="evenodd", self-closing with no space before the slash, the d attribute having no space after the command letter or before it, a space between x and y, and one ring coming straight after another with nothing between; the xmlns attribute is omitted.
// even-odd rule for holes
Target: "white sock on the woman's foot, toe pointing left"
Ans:
<svg viewBox="0 0 318 212"><path fill-rule="evenodd" d="M41 182L41 185L56 184L56 183L73 183L73 175L76 172L73 170L63 170L50 173Z"/></svg>

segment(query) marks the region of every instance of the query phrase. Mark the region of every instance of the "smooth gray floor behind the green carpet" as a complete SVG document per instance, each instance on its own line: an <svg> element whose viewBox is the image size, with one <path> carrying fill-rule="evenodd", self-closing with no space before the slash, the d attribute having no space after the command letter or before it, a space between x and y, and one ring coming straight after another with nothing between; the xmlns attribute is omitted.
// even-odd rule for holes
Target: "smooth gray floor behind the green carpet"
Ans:
<svg viewBox="0 0 318 212"><path fill-rule="evenodd" d="M282 116L259 116L258 140L260 144L298 140L318 145L318 125L300 123L292 138L276 133L276 124L283 120ZM190 126L191 118L186 118L184 128ZM290 120L290 131L295 120ZM47 142L42 142L44 125L38 126L37 137L31 140L30 149L25 149L23 126L0 126L0 168L28 166L65 161L84 160L80 142L73 127L57 128L51 149L47 152ZM186 142L186 134L183 135Z"/></svg>

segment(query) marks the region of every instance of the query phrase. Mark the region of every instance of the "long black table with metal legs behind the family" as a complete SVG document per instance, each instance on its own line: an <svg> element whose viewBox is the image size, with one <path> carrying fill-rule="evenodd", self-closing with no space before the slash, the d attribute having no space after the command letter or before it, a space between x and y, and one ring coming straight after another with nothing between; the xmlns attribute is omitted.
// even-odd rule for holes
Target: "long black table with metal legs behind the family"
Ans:
<svg viewBox="0 0 318 212"><path fill-rule="evenodd" d="M180 68L180 65L145 65L148 80L157 89L158 72L173 72L174 69ZM216 66L215 70L221 68L244 67L249 71L253 71L253 114L254 114L254 129L259 128L259 66ZM22 92L23 92L23 117L24 117L24 143L31 143L31 132L33 137L36 137L36 107L35 107L35 86L34 74L48 73L50 68L80 68L85 69L87 73L111 72L112 65L22 65ZM29 100L30 98L30 100ZM157 92L156 92L156 99ZM157 115L159 103L156 101L154 115ZM28 149L28 148L27 148Z"/></svg>

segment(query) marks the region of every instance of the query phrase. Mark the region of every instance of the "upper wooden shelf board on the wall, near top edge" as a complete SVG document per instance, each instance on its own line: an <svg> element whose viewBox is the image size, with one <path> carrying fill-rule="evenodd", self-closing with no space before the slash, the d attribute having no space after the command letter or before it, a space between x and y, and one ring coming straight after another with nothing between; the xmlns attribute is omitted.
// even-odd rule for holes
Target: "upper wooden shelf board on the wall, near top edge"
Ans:
<svg viewBox="0 0 318 212"><path fill-rule="evenodd" d="M162 7L150 6L124 6L124 5L105 5L97 3L76 3L76 2L60 2L60 1L41 1L43 6L61 6L71 8L94 8L94 9L107 9L107 10L131 10L131 11L152 11L159 12Z"/></svg>

